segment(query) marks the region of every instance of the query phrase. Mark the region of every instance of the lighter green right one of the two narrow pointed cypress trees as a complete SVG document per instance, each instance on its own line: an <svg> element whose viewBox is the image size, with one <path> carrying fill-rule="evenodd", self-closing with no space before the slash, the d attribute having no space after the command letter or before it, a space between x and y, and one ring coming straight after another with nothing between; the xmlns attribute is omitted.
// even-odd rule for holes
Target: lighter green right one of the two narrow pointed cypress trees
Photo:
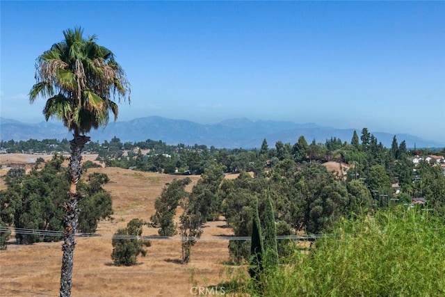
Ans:
<svg viewBox="0 0 445 297"><path fill-rule="evenodd" d="M278 264L277 228L269 191L267 192L266 217L264 220L264 250L267 255L268 266L276 266Z"/></svg>

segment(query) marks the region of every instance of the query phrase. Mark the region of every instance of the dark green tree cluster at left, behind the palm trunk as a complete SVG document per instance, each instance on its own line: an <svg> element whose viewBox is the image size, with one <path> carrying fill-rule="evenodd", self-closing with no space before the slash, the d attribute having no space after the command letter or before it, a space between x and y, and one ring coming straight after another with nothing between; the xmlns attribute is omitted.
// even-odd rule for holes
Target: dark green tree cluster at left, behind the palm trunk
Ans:
<svg viewBox="0 0 445 297"><path fill-rule="evenodd" d="M64 159L54 155L42 170L33 169L29 175L23 169L10 169L5 177L6 190L0 195L0 219L6 225L33 230L63 230L63 202L67 198L69 184ZM79 231L95 232L97 223L112 214L111 196L102 185L108 177L95 172L86 182L79 182L85 197L79 201ZM17 243L32 244L39 241L57 241L57 236L40 234L16 235Z"/></svg>

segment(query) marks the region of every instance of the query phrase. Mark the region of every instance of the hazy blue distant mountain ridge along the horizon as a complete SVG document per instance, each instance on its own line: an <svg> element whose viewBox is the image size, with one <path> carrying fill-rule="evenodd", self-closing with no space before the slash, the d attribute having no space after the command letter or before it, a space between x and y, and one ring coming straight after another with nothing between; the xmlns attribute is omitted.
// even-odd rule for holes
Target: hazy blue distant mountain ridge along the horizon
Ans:
<svg viewBox="0 0 445 297"><path fill-rule="evenodd" d="M336 129L323 127L314 123L297 124L295 122L258 120L247 118L225 120L212 125L202 125L188 120L172 120L158 116L136 118L129 121L110 122L104 129L91 131L92 141L110 141L114 136L124 142L138 142L152 139L163 141L169 145L184 143L185 145L207 145L217 148L254 148L261 147L266 138L269 147L277 141L283 143L296 143L300 136L305 136L311 143L325 143L331 137L340 138L341 141L350 142L355 129ZM356 129L360 135L362 128ZM398 143L405 140L407 147L444 147L445 143L429 141L410 134L389 134L385 132L370 131L379 142L386 147L391 146L396 135ZM26 124L16 120L0 118L0 138L3 141L27 141L29 139L42 140L45 138L71 139L72 135L63 127L61 122L40 122Z"/></svg>

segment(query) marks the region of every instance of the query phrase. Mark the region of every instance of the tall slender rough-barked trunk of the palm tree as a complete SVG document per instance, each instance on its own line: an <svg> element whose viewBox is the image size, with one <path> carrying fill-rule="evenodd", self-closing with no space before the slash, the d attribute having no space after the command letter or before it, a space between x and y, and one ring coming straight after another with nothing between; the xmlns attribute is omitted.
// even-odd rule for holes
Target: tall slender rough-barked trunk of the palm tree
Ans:
<svg viewBox="0 0 445 297"><path fill-rule="evenodd" d="M81 153L83 146L90 141L88 136L74 135L74 139L70 141L71 145L71 160L70 160L70 192L68 192L68 201L63 206L65 208L65 215L63 216L63 225L65 232L63 232L62 243L62 268L60 274L60 297L71 296L72 287L72 268L74 265L74 246L76 241L74 234L77 230L77 218L79 209L77 203L81 194L76 193L77 182L81 177Z"/></svg>

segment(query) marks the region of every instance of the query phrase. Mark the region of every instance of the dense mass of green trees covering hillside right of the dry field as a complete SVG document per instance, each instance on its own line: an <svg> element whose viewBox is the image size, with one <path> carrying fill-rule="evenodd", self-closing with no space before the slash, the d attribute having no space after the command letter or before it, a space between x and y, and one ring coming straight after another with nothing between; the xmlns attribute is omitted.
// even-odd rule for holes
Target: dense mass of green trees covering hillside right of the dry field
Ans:
<svg viewBox="0 0 445 297"><path fill-rule="evenodd" d="M225 153L226 158L221 159ZM391 148L386 148L367 129L360 138L355 132L351 143L331 138L325 144L308 144L300 136L293 146L278 142L269 149L264 140L259 151L216 150L211 154L216 163L207 163L210 165L193 191L183 193L188 202L185 213L188 221L193 214L193 230L199 230L205 220L223 215L236 236L252 234L255 207L261 225L267 226L268 196L273 201L278 235L330 232L342 217L358 218L397 204L409 206L416 197L425 198L435 214L444 216L442 168L426 162L414 168L410 154L404 141L399 145L394 137ZM248 160L245 167L234 170L241 174L236 179L220 178L222 172L233 172L233 163L225 161L240 155ZM343 172L330 172L323 166L323 161L332 159L346 162ZM239 160L237 164L242 163ZM423 178L415 179L414 172ZM249 248L248 242L230 241L232 261L248 259ZM286 241L278 243L280 255L286 250Z"/></svg>

